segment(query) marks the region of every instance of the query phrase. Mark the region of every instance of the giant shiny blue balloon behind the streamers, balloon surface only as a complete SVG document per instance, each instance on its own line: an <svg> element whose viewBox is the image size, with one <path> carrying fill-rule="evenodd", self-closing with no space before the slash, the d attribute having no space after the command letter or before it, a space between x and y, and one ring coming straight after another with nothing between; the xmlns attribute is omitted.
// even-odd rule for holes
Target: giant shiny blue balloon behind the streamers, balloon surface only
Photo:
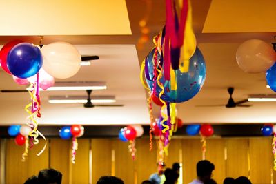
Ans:
<svg viewBox="0 0 276 184"><path fill-rule="evenodd" d="M150 52L148 57L148 62L146 62L146 66L150 79L153 77L153 66L152 62L154 50ZM159 56L157 56L159 57ZM146 71L146 69L145 69ZM170 103L180 103L184 101L188 101L195 96L199 90L201 90L205 78L206 78L206 65L204 61L204 57L201 54L199 48L195 50L195 54L190 58L189 70L186 73L180 72L180 70L175 70L175 76L177 78L177 90L171 90L170 81L166 81L164 78L164 74L159 80L164 85L164 94L161 96L161 99ZM151 90L153 90L153 85L156 85L153 81L146 80L148 86ZM161 92L161 88L156 86L157 94Z"/></svg>

